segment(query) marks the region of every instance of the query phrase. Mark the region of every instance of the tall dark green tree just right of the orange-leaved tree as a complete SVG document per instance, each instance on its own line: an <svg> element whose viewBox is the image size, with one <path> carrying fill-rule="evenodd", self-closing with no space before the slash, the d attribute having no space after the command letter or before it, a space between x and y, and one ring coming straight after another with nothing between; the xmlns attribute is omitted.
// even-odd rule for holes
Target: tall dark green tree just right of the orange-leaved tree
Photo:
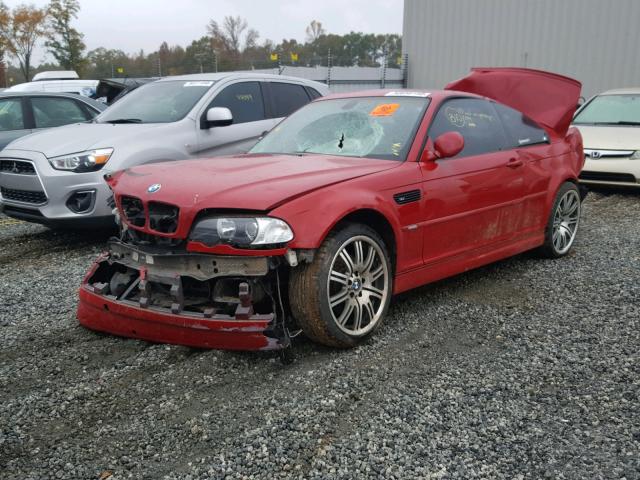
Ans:
<svg viewBox="0 0 640 480"><path fill-rule="evenodd" d="M71 26L71 21L78 17L79 11L78 0L51 0L48 12L49 40L45 46L62 68L81 73L86 64L83 57L85 44L83 35Z"/></svg>

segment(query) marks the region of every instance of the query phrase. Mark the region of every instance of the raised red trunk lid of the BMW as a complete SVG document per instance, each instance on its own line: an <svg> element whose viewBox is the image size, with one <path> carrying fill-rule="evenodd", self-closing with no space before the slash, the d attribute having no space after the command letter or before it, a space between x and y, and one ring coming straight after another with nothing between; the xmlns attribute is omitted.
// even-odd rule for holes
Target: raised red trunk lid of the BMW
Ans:
<svg viewBox="0 0 640 480"><path fill-rule="evenodd" d="M569 129L581 88L572 78L528 68L472 68L469 75L445 87L515 108L559 137Z"/></svg>

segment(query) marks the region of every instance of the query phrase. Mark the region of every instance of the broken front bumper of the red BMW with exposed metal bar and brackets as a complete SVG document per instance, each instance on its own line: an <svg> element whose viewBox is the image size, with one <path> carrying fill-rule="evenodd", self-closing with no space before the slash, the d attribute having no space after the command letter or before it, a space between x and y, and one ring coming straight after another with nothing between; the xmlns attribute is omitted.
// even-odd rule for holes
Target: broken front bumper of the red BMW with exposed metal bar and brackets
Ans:
<svg viewBox="0 0 640 480"><path fill-rule="evenodd" d="M213 305L189 310L188 292L183 290L187 274L191 281L203 282L230 276L250 279L267 274L268 265L269 259L264 257L151 255L112 242L110 251L98 258L80 287L78 320L92 330L151 342L224 350L282 349L289 345L284 328L273 312L254 311L246 283L240 284L239 302L231 304L232 313L229 307L221 311ZM137 272L127 289L135 295L113 291L113 276L104 274L107 269L125 268ZM170 300L165 305L154 304L154 282L170 286Z"/></svg>

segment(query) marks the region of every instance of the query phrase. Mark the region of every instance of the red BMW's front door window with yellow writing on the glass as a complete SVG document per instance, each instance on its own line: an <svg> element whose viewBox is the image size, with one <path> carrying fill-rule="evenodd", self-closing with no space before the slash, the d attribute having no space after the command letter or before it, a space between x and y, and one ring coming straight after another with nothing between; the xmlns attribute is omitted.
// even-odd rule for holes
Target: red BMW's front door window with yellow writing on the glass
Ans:
<svg viewBox="0 0 640 480"><path fill-rule="evenodd" d="M445 132L460 132L464 150L458 157L504 150L508 143L504 129L491 103L476 98L446 101L429 127L432 140Z"/></svg>

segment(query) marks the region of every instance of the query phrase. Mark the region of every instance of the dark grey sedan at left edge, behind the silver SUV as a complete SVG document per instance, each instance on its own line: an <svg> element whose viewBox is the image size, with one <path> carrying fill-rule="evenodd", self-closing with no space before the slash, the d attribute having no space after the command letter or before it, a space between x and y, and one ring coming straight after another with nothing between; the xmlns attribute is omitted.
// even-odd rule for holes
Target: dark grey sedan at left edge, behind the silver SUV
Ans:
<svg viewBox="0 0 640 480"><path fill-rule="evenodd" d="M106 108L71 93L0 92L0 150L41 129L86 122Z"/></svg>

